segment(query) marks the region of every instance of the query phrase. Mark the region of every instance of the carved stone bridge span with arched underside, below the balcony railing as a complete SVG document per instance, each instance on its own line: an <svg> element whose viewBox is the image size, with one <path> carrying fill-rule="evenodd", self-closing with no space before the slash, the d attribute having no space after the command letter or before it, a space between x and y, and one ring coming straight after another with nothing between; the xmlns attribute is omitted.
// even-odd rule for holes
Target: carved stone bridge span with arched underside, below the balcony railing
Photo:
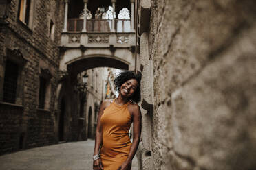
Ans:
<svg viewBox="0 0 256 170"><path fill-rule="evenodd" d="M63 32L60 49L61 71L77 74L99 66L134 70L135 32Z"/></svg>

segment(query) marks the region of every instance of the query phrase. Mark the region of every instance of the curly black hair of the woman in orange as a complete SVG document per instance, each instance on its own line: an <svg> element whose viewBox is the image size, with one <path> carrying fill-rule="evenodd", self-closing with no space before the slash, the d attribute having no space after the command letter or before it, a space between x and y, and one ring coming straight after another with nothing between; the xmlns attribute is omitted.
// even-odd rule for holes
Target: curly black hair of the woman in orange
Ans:
<svg viewBox="0 0 256 170"><path fill-rule="evenodd" d="M123 71L119 73L119 75L115 78L114 84L116 90L119 92L120 87L124 84L127 80L135 79L138 82L138 86L134 95L132 95L131 100L138 103L140 101L140 80L141 80L141 73L134 73L132 71Z"/></svg>

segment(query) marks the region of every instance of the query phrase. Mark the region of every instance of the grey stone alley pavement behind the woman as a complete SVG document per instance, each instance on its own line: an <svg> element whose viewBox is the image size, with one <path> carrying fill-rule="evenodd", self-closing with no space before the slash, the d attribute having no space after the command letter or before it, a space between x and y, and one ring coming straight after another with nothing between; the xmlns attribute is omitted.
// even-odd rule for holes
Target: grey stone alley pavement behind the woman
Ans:
<svg viewBox="0 0 256 170"><path fill-rule="evenodd" d="M37 147L0 156L1 170L92 170L94 140ZM131 170L138 170L134 157Z"/></svg>

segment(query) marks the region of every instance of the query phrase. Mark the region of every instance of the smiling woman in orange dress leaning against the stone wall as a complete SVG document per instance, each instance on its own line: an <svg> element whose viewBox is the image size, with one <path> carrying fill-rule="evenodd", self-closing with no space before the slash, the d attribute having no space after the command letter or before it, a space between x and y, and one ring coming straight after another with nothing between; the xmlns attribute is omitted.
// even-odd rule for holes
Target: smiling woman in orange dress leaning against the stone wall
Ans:
<svg viewBox="0 0 256 170"><path fill-rule="evenodd" d="M114 80L119 95L100 106L94 146L94 170L129 170L138 149L141 132L140 74L120 73ZM133 143L129 129L133 123Z"/></svg>

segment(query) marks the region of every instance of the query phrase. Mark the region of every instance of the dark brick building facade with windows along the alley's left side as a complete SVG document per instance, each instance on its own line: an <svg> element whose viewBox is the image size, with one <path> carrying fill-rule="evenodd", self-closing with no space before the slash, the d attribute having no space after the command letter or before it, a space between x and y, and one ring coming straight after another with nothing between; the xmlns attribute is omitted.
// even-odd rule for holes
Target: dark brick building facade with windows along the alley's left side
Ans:
<svg viewBox="0 0 256 170"><path fill-rule="evenodd" d="M1 1L0 153L55 143L61 1Z"/></svg>

